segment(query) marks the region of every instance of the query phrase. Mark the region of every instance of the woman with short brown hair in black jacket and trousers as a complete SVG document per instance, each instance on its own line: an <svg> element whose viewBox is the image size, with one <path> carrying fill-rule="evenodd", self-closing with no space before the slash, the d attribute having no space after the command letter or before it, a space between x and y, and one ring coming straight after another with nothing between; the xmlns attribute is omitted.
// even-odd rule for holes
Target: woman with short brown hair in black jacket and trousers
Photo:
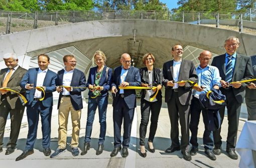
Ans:
<svg viewBox="0 0 256 168"><path fill-rule="evenodd" d="M163 74L160 68L154 68L155 57L151 53L147 53L143 57L143 63L146 65L145 68L140 69L140 75L142 80L142 87L153 87L156 86L159 92L156 98L150 101L150 96L153 95L157 89L143 89L141 91L141 124L140 124L140 155L143 157L147 156L145 150L145 136L147 133L147 126L149 123L149 116L151 111L151 125L150 134L148 140L149 151L155 152L153 146L153 139L157 130L158 116L162 106L162 79Z"/></svg>

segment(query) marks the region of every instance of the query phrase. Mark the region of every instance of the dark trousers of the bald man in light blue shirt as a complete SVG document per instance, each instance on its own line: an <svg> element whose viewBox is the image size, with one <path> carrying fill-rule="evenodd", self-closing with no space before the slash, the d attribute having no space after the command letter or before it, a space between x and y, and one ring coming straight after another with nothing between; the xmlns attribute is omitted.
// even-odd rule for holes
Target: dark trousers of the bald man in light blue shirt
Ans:
<svg viewBox="0 0 256 168"><path fill-rule="evenodd" d="M205 149L213 149L213 133L212 131L209 131L207 129L208 127L208 111L204 110L201 107L201 104L199 102L199 99L196 97L193 97L192 102L191 102L191 112L190 112L190 124L189 128L191 131L191 137L190 137L190 143L193 146L198 146L197 142L197 131L198 131L198 124L199 124L199 119L200 119L200 114L202 111L203 115L203 122L204 122L204 134L203 134L203 144Z"/></svg>

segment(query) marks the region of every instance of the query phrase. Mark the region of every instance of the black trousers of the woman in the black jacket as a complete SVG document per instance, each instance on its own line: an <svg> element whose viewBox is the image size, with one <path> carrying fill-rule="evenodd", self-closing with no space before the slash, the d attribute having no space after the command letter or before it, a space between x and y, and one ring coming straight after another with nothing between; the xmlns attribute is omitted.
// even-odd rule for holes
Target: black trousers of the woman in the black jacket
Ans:
<svg viewBox="0 0 256 168"><path fill-rule="evenodd" d="M151 124L150 124L150 134L149 141L153 142L158 123L158 116L162 106L162 98L155 102L149 102L145 99L141 100L141 124L140 124L140 145L145 145L145 137L147 133L147 127L149 123L149 116L151 111Z"/></svg>

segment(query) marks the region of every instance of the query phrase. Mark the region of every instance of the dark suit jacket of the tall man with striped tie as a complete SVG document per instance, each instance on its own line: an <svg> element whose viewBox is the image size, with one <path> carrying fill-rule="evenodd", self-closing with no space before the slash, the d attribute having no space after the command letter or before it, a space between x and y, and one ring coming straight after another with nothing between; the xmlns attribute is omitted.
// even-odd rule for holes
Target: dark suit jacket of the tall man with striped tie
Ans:
<svg viewBox="0 0 256 168"><path fill-rule="evenodd" d="M215 66L219 69L219 75L220 75L221 79L225 81L225 78L226 78L225 54L214 57L211 65ZM252 73L250 58L247 56L241 56L241 55L236 54L232 82L247 80L247 79L252 79L252 78L253 78L253 73ZM243 97L245 96L245 91L244 91L245 88L246 88L245 83L242 83L241 87L237 88L237 89L232 87L232 91L233 91L238 103L242 103L242 101L243 101ZM220 90L223 93L224 88L221 87Z"/></svg>

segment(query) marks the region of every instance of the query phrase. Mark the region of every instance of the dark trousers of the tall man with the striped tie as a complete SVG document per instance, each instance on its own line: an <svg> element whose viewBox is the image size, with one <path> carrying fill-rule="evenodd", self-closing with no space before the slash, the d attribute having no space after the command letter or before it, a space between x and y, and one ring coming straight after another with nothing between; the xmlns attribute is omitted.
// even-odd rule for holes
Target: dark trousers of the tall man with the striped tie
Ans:
<svg viewBox="0 0 256 168"><path fill-rule="evenodd" d="M238 103L235 99L232 89L221 90L222 94L226 96L226 107L227 107L227 120L228 120L228 132L227 132L227 145L226 149L235 148L239 115L241 110L241 103ZM220 108L219 114L221 117L221 124L223 122L225 113L225 106ZM221 127L213 131L214 145L215 148L220 148L222 141L220 136Z"/></svg>

